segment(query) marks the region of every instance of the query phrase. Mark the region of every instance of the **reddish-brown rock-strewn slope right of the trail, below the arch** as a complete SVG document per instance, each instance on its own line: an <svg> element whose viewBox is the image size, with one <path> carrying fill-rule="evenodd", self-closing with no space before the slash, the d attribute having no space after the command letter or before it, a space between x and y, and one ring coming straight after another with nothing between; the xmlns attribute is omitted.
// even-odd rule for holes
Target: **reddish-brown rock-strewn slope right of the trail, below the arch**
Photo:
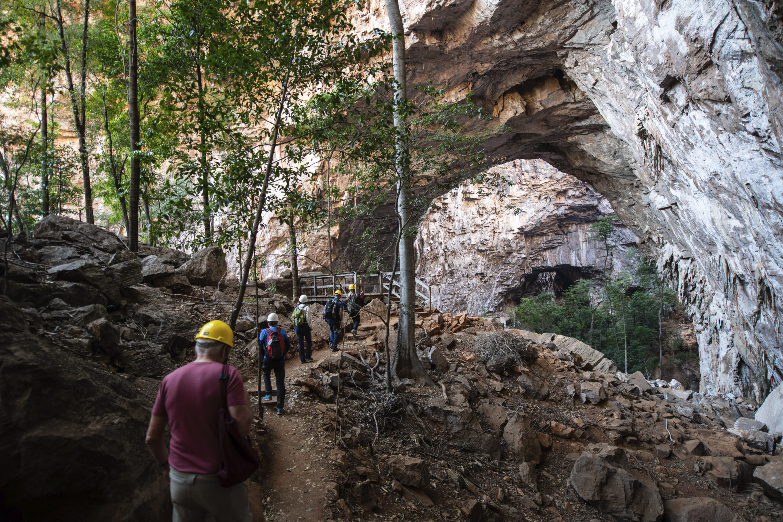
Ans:
<svg viewBox="0 0 783 522"><path fill-rule="evenodd" d="M781 434L752 398L616 373L577 340L479 316L420 326L432 386L384 391L380 323L291 377L335 437L331 520L783 519Z"/></svg>

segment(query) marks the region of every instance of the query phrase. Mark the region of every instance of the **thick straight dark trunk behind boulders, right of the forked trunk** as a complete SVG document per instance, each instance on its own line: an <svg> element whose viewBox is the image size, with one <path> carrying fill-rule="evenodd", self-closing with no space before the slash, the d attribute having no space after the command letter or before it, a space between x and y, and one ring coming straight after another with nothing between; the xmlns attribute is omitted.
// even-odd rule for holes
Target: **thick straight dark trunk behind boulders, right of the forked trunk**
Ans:
<svg viewBox="0 0 783 522"><path fill-rule="evenodd" d="M131 137L131 187L128 199L128 247L139 251L139 192L141 188L141 164L139 162L139 49L136 41L136 0L128 0L128 41L130 64L128 67L128 120Z"/></svg>

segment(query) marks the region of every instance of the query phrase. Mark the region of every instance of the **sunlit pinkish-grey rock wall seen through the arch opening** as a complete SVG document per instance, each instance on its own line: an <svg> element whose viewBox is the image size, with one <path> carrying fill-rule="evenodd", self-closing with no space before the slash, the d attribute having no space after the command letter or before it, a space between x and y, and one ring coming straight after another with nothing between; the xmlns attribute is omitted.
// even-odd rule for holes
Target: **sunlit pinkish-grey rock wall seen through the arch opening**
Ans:
<svg viewBox="0 0 783 522"><path fill-rule="evenodd" d="M608 255L588 240L608 201L542 160L492 169L508 183L465 184L438 197L416 240L417 277L431 285L432 304L471 315L513 306L521 297L560 293L577 279L625 268L636 236L619 225Z"/></svg>

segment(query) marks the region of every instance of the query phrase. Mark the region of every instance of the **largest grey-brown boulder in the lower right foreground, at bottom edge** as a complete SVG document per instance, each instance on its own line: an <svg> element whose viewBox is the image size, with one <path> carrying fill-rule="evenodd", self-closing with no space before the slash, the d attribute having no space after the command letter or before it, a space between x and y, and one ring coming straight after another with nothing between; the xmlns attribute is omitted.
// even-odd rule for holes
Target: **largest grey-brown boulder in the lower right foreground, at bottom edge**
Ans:
<svg viewBox="0 0 783 522"><path fill-rule="evenodd" d="M627 467L620 448L584 452L571 470L571 485L583 500L619 520L659 522L663 502L658 488Z"/></svg>

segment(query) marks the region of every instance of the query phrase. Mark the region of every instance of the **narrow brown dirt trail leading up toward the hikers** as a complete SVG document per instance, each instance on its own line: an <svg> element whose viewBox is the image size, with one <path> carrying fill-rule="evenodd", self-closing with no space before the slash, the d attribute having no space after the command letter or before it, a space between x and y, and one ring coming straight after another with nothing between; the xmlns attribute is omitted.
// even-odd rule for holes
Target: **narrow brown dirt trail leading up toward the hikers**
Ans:
<svg viewBox="0 0 783 522"><path fill-rule="evenodd" d="M316 360L326 355L326 349L313 353ZM256 423L255 429L264 430L267 443L263 448L262 484L251 487L254 520L318 522L324 519L328 475L334 473L328 466L331 438L320 427L316 401L292 385L298 377L309 374L315 364L301 364L298 356L287 361L285 415L277 416L275 405L264 405L264 420ZM255 380L250 383L253 388L256 386ZM274 383L272 374L272 386ZM260 517L261 509L264 519Z"/></svg>

